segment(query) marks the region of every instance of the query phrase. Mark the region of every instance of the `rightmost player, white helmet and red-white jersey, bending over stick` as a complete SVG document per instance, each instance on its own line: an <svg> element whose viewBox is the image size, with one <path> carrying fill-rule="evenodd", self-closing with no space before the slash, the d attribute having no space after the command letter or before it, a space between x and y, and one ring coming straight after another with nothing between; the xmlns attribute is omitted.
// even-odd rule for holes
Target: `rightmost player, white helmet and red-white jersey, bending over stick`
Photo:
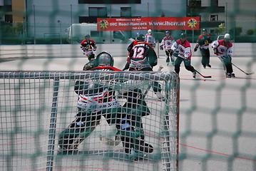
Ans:
<svg viewBox="0 0 256 171"><path fill-rule="evenodd" d="M233 44L230 42L230 34L226 33L224 39L213 41L212 43L214 53L220 58L223 66L225 66L226 77L231 78L235 77L232 68L232 53L233 53Z"/></svg>

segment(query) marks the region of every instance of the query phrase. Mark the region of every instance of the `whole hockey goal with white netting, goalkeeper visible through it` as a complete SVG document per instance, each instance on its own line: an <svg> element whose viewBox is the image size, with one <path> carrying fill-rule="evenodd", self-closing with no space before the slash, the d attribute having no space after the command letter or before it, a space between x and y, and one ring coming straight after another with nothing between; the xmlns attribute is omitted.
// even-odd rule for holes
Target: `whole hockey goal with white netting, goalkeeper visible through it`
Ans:
<svg viewBox="0 0 256 171"><path fill-rule="evenodd" d="M173 72L0 71L1 170L178 170L179 90Z"/></svg>

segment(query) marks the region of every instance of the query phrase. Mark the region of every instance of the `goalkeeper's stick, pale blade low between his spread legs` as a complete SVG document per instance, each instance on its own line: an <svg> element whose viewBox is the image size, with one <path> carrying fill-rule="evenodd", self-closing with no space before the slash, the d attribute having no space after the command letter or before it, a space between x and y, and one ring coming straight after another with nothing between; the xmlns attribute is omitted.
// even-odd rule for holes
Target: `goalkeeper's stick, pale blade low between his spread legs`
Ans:
<svg viewBox="0 0 256 171"><path fill-rule="evenodd" d="M158 71L161 71L163 69L163 66L159 66ZM143 94L143 98L145 98L145 95L147 95L148 90L150 89L150 87L153 85L153 81L148 85L148 88L145 90L144 94ZM107 138L103 135L100 135L100 140L101 142L103 142L106 145L119 145L121 142L121 138L119 135L116 135L116 140L112 140L111 138Z"/></svg>

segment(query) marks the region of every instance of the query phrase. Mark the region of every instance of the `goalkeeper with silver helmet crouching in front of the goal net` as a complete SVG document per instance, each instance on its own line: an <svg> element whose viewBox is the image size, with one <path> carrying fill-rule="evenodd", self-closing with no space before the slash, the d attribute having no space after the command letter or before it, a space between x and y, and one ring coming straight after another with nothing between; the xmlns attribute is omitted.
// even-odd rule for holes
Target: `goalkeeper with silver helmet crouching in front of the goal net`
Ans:
<svg viewBox="0 0 256 171"><path fill-rule="evenodd" d="M110 53L99 53L96 60L98 66L91 71L121 71L113 67ZM101 84L100 81L76 81L78 113L76 119L59 136L58 151L76 150L79 143L100 124L102 115L109 125L116 124L125 152L131 160L138 160L141 152L153 152L153 146L144 142L141 116L147 115L147 111L140 90L134 90L134 96L128 96L128 101L122 107L116 100L112 86Z"/></svg>

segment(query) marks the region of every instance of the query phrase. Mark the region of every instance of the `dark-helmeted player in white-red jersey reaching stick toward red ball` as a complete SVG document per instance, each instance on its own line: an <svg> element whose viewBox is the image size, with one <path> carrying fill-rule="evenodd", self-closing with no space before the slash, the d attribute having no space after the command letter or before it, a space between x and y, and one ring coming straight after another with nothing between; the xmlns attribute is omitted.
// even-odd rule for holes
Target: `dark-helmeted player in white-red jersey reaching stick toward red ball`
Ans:
<svg viewBox="0 0 256 171"><path fill-rule="evenodd" d="M173 51L178 50L178 57L174 62L174 68L176 73L180 73L180 63L184 62L185 68L188 71L193 73L193 78L196 76L196 71L193 66L191 66L191 47L190 43L187 40L186 33L181 33L181 38L173 43L171 48L171 56L173 55Z"/></svg>

